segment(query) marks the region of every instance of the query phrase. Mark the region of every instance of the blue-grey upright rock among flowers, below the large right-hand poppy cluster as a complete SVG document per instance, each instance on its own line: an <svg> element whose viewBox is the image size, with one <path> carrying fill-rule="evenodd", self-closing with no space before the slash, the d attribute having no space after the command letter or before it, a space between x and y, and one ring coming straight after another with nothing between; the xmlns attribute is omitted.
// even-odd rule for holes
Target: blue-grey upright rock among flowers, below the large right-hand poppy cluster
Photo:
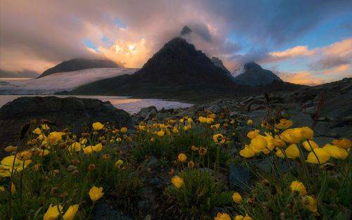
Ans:
<svg viewBox="0 0 352 220"><path fill-rule="evenodd" d="M250 173L249 169L239 167L237 164L230 165L230 188L245 190L249 186Z"/></svg>

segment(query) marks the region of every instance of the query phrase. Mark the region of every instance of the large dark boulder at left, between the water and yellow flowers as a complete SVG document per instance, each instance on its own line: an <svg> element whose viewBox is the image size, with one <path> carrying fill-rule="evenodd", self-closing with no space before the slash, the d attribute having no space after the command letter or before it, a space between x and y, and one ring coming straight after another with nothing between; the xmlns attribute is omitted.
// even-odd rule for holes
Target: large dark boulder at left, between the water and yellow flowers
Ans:
<svg viewBox="0 0 352 220"><path fill-rule="evenodd" d="M93 98L20 97L0 108L0 143L2 147L15 144L24 124L33 119L48 119L51 127L73 126L76 134L92 127L92 122L116 122L132 127L132 118L110 102ZM34 129L34 128L32 128Z"/></svg>

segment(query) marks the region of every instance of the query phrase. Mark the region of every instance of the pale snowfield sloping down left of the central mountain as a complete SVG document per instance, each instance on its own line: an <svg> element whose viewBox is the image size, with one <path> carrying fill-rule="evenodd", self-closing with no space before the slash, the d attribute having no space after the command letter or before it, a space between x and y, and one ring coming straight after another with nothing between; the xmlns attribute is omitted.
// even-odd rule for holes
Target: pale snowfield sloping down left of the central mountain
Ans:
<svg viewBox="0 0 352 220"><path fill-rule="evenodd" d="M73 72L58 72L39 79L6 80L0 82L0 94L52 94L71 91L77 86L100 79L132 74L136 68L94 68Z"/></svg>

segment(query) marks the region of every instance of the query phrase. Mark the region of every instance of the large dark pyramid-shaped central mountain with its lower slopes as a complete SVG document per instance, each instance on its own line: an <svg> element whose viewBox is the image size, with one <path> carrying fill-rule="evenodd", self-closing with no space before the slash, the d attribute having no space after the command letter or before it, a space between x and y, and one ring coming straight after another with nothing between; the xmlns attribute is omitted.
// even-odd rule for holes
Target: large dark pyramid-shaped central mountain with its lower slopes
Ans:
<svg viewBox="0 0 352 220"><path fill-rule="evenodd" d="M65 94L201 101L299 87L281 80L274 80L271 84L272 86L235 84L233 77L217 67L202 51L197 51L185 39L176 37L134 74L102 79Z"/></svg>

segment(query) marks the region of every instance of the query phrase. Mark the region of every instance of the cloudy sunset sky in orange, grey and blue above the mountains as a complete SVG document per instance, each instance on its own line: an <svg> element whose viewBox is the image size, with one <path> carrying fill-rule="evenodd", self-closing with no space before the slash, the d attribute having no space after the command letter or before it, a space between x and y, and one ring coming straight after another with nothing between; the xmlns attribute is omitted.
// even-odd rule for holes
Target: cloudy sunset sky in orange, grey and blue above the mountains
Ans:
<svg viewBox="0 0 352 220"><path fill-rule="evenodd" d="M142 67L184 25L230 72L254 61L287 82L352 77L352 1L0 0L0 70L70 58Z"/></svg>

